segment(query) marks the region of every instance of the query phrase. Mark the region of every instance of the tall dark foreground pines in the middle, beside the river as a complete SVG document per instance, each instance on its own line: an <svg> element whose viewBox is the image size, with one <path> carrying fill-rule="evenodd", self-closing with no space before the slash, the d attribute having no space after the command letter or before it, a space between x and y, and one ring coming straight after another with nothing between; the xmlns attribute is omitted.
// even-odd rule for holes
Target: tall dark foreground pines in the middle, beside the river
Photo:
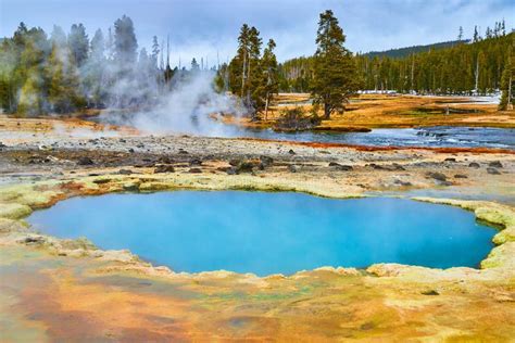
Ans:
<svg viewBox="0 0 515 343"><path fill-rule="evenodd" d="M355 61L343 47L344 41L346 35L332 11L325 11L319 15L314 58L294 60L300 66L303 62L312 63L306 65L310 73L292 76L301 82L296 85L300 91L312 92L314 104L323 106L326 118L335 111L341 112L360 86ZM271 39L262 52L260 31L243 24L236 56L217 73L217 88L240 97L252 119L259 119L263 112L266 119L272 98L285 86L285 78L279 78L284 69L279 69L275 48L275 41Z"/></svg>

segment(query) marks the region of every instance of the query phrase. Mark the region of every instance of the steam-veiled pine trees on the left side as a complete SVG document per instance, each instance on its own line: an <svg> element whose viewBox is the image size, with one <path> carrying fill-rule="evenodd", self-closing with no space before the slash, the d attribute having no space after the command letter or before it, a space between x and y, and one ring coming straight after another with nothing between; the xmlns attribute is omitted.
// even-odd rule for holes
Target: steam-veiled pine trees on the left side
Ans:
<svg viewBox="0 0 515 343"><path fill-rule="evenodd" d="M0 107L33 116L151 105L190 74L172 69L163 50L155 36L150 53L138 50L133 21L125 15L106 35L98 29L91 39L83 24L72 25L67 35L54 26L47 35L21 23L12 38L0 41Z"/></svg>

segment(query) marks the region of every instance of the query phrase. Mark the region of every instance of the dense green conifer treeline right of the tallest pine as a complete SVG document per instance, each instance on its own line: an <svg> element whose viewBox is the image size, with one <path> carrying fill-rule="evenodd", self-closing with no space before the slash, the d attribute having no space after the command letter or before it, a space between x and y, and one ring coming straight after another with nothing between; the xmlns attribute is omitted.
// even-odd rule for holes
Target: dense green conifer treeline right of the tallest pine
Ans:
<svg viewBox="0 0 515 343"><path fill-rule="evenodd" d="M356 56L364 89L420 94L487 94L501 87L515 34L413 53L402 59Z"/></svg>

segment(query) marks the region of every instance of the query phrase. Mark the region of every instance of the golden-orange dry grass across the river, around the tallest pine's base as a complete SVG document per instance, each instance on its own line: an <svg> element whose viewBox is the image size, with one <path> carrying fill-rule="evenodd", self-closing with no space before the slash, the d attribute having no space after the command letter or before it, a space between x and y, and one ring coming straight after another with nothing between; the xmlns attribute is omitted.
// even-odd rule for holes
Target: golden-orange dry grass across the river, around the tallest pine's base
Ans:
<svg viewBox="0 0 515 343"><path fill-rule="evenodd" d="M247 118L236 120L225 117L224 122L246 127L273 127L282 109L301 106L311 112L312 106L305 104L309 94L279 94L266 120L251 123ZM330 120L323 120L318 129L355 130L443 125L513 128L515 111L500 112L495 104L470 103L467 98L362 94L351 100L343 114L334 114Z"/></svg>

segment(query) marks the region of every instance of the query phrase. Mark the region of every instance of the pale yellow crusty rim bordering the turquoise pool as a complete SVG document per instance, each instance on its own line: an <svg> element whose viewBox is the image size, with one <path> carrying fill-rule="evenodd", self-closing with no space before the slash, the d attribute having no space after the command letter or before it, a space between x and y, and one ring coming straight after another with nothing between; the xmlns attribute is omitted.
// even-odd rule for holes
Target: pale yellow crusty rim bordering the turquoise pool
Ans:
<svg viewBox="0 0 515 343"><path fill-rule="evenodd" d="M8 187L7 192L11 192L12 199L25 199L32 200L28 204L23 202L8 202L1 205L0 207L0 218L2 218L3 227L8 221L11 227L17 227L17 229L9 231L10 237L8 240L5 238L0 238L0 241L3 243L8 242L9 244L25 244L25 245L35 245L39 247L46 247L50 251L53 251L56 255L60 256L92 256L97 258L102 258L105 261L115 261L126 264L126 267L136 267L140 271L148 271L150 275L161 275L161 276L198 276L198 275L212 275L219 276L221 274L233 274L238 275L238 272L226 271L226 270L215 270L215 271L204 271L204 272L174 272L167 267L164 266L153 266L150 263L139 259L138 256L134 255L129 251L102 251L98 250L92 243L88 240L78 239L78 240L64 240L58 239L50 236L38 234L27 230L24 225L23 218L28 216L32 211L37 208L43 208L52 206L58 201L71 198L71 196L85 196L85 195L98 195L106 194L112 192L124 192L134 191L134 185L136 185L140 176L99 176L99 177L86 177L78 178L74 180L75 183L81 183L81 187L75 186L79 189L79 192L75 193L65 193L62 192L63 185L64 187L71 187L70 183L59 182L59 181L41 181L33 185L21 185L14 187ZM293 192L304 192L317 196L327 196L335 199L349 199L349 198L363 198L363 194L348 194L344 192L335 192L328 190L319 190L316 187L310 187L309 185L288 185L288 182L249 182L249 179L240 180L241 182L236 182L233 185L227 185L224 181L228 177L215 178L211 183L194 182L190 177L186 177L183 180L179 178L171 179L169 176L158 176L152 178L152 180L147 180L147 183L139 183L139 192L155 192L155 191L173 191L173 190L250 190L250 191L293 191ZM230 178L234 180L234 177ZM197 180L198 181L198 180ZM189 182L189 186L186 183ZM100 186L100 187L99 187ZM45 189L45 191L40 191ZM58 191L61 190L61 191ZM16 193L17 192L17 193ZM0 193L5 193L5 188L0 189ZM401 196L402 198L402 196ZM377 276L392 276L398 274L400 270L406 272L411 268L415 269L427 269L428 271L439 270L442 272L451 271L454 274L459 269L464 269L463 275L469 275L469 272L475 271L485 271L489 269L502 268L505 269L513 265L514 262L514 240L515 240L515 211L513 207L506 205L500 205L497 203L485 202L485 201L463 201L463 200L452 200L452 199L434 199L434 198L409 198L417 201L445 204L452 206L459 206L467 211L473 211L477 219L483 220L488 224L494 225L498 229L499 227L504 227L501 229L494 237L493 243L495 246L491 250L489 255L481 261L480 269L469 268L469 267L453 267L448 269L437 269L437 268L427 268L418 267L413 265L400 265L400 264L374 264L366 268L344 268L344 267L331 267L324 266L316 268L314 270L332 270L338 274L360 274L366 271L367 274L373 274ZM1 225L1 224L0 224ZM4 231L4 229L2 230ZM504 244L510 243L511 249L506 249ZM507 250L507 251L506 251ZM312 270L313 271L313 270ZM298 274L306 272L306 270L300 270L292 276L296 277ZM474 272L473 272L474 274ZM244 274L252 277L260 278L253 274ZM274 276L274 275L272 275ZM265 276L267 278L271 276ZM289 278L280 275L280 277Z"/></svg>

